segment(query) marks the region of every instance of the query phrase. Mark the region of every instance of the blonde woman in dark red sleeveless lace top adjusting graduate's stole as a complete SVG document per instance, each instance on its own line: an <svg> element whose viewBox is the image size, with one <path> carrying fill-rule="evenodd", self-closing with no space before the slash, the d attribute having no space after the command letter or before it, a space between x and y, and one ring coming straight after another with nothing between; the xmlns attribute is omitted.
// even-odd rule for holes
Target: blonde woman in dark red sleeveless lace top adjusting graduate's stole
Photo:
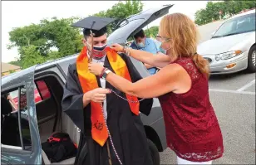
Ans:
<svg viewBox="0 0 256 165"><path fill-rule="evenodd" d="M193 21L181 13L162 18L161 47L167 56L132 50L118 44L138 61L162 68L135 83L90 64L95 75L104 75L118 90L139 98L160 99L165 119L167 145L177 154L178 164L211 164L224 153L223 137L214 108L209 101L209 64L196 53L198 32Z"/></svg>

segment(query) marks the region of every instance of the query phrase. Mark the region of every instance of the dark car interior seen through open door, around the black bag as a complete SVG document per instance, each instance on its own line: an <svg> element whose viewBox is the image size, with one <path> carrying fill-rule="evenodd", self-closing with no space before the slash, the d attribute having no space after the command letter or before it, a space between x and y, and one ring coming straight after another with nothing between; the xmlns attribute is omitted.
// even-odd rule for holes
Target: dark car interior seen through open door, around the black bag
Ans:
<svg viewBox="0 0 256 165"><path fill-rule="evenodd" d="M47 142L52 133L68 133L72 142L78 145L80 132L69 117L62 113L62 96L63 87L62 80L55 74L43 76L35 76L35 84L37 81L44 81L47 85L47 90L50 93L50 98L42 99L36 103L38 129L41 138L41 143ZM42 93L40 87L37 86L38 93ZM47 158L47 154L42 150L42 160L45 164L74 164L75 157L67 158L58 163L51 163Z"/></svg>

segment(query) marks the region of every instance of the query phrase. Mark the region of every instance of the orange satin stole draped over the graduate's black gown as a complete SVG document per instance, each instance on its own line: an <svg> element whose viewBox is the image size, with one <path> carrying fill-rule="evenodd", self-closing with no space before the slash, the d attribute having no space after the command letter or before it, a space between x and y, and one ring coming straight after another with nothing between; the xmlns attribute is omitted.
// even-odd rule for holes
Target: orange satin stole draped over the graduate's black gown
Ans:
<svg viewBox="0 0 256 165"><path fill-rule="evenodd" d="M120 75L126 80L131 81L126 62L123 61L121 56L119 56L116 51L111 50L110 47L106 47L106 56L110 61L111 67L115 71L116 75ZM80 55L76 59L76 69L83 93L99 87L96 76L91 74L88 70L86 46L83 47ZM129 100L138 101L138 98L131 95L126 95L126 98ZM130 110L134 114L139 115L140 103L129 102L129 105ZM106 139L108 138L106 124L101 110L101 104L93 101L91 101L91 136L96 143L101 145L101 147L106 143Z"/></svg>

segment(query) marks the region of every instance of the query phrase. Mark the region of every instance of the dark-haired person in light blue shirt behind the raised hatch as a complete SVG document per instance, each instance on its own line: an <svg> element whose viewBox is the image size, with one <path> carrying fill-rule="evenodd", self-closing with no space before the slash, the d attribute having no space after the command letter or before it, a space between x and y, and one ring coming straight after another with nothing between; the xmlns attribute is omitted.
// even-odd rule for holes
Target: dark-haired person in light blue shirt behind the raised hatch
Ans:
<svg viewBox="0 0 256 165"><path fill-rule="evenodd" d="M133 41L130 45L132 49L147 51L153 54L157 54L160 51L155 41L145 36L145 32L143 31L143 29L137 32L134 38L135 38L135 41ZM154 75L156 70L158 70L155 66L151 66L146 63L144 63L144 65L150 72L150 75Z"/></svg>

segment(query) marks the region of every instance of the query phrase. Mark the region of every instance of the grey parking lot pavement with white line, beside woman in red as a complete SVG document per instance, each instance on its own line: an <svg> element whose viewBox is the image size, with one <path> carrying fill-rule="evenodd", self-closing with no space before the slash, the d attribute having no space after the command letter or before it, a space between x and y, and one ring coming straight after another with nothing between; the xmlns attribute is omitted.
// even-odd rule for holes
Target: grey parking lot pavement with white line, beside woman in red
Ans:
<svg viewBox="0 0 256 165"><path fill-rule="evenodd" d="M211 76L209 96L224 138L224 156L213 163L254 164L255 73ZM160 161L175 164L175 153L166 149L160 153Z"/></svg>

